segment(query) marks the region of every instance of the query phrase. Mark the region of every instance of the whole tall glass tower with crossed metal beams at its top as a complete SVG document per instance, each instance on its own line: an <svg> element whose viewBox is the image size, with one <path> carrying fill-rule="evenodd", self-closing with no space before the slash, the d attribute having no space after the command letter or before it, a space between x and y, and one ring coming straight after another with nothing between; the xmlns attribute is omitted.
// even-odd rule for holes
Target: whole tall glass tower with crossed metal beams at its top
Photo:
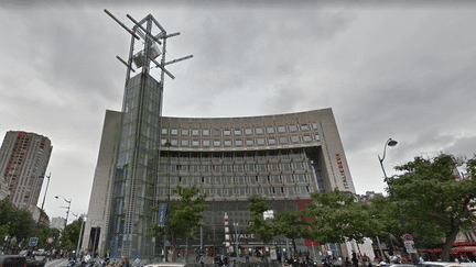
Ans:
<svg viewBox="0 0 476 267"><path fill-rule="evenodd" d="M127 66L127 75L105 249L112 257L152 257L154 243L147 227L155 220L151 208L158 182L164 75L175 78L165 66L192 56L165 63L166 41L180 33L167 34L151 14L139 22L128 14L133 23L129 29L105 12L132 35L128 60L117 57ZM151 76L153 68L161 69L159 81Z"/></svg>

